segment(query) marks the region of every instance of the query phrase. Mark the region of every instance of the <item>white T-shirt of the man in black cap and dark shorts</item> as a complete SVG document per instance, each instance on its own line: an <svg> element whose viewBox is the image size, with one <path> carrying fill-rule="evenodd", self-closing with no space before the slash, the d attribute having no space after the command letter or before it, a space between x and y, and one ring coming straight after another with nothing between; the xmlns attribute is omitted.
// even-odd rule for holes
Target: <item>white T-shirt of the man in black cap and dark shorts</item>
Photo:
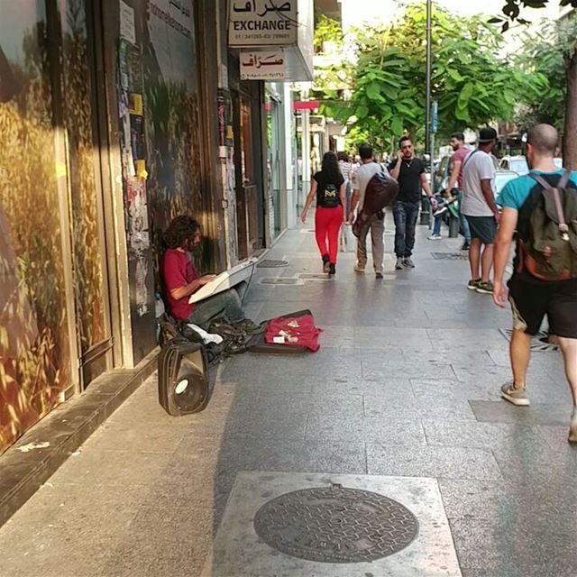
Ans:
<svg viewBox="0 0 577 577"><path fill-rule="evenodd" d="M495 165L484 151L472 151L463 160L463 204L461 212L466 216L492 216L493 213L481 189L481 180L490 180L495 191Z"/></svg>

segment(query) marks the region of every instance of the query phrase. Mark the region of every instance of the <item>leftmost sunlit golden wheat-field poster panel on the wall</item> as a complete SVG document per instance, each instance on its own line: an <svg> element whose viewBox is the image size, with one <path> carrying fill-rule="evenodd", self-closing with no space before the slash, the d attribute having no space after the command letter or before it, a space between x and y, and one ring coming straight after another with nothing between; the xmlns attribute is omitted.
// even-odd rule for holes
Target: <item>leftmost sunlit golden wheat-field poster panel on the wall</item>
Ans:
<svg viewBox="0 0 577 577"><path fill-rule="evenodd" d="M7 8L7 5L10 7ZM60 169L43 2L0 9L0 453L69 388ZM25 151L25 153L23 153Z"/></svg>

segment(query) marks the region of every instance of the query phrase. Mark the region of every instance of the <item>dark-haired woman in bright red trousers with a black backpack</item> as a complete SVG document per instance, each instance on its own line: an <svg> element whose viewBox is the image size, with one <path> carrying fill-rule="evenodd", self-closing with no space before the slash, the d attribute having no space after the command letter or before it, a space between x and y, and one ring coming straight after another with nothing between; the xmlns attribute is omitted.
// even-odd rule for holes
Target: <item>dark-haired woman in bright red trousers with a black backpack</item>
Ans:
<svg viewBox="0 0 577 577"><path fill-rule="evenodd" d="M326 152L322 169L313 177L310 192L300 219L307 222L308 207L316 197L316 244L323 259L323 271L334 274L338 252L339 231L346 206L346 184L334 152ZM326 243L328 241L328 249Z"/></svg>

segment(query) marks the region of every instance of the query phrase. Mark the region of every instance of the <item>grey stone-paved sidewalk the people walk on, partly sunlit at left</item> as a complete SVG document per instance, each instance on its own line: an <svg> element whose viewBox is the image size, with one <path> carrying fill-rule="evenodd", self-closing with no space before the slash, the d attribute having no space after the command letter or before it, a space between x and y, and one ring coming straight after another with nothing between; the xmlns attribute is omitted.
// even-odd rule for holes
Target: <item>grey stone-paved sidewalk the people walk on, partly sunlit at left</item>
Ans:
<svg viewBox="0 0 577 577"><path fill-rule="evenodd" d="M0 528L0 577L190 577L203 567L213 577L577 574L577 451L566 442L559 353L534 354L533 404L514 408L499 400L509 312L465 289L467 261L432 256L458 252L458 239L427 241L418 227L417 268L395 272L388 232L383 280L370 269L355 274L349 252L339 254L336 279L271 284L319 271L308 229L289 231L267 255L289 266L258 269L247 312L264 319L310 308L325 329L321 350L229 360L214 374L208 408L189 417L166 415L155 379L146 381ZM248 487L250 501L251 486L261 499L269 481L297 490L335 475L440 491L431 510L438 527L448 520L444 554L454 545L458 567L426 570L408 556L395 572L315 563L303 573L287 569L300 565L283 554L243 561L229 551L220 566L238 568L218 569L220 545L234 544L231 507L240 501L226 505L231 490ZM426 532L426 512L413 511ZM215 564L205 565L219 526ZM249 572L249 563L261 569Z"/></svg>

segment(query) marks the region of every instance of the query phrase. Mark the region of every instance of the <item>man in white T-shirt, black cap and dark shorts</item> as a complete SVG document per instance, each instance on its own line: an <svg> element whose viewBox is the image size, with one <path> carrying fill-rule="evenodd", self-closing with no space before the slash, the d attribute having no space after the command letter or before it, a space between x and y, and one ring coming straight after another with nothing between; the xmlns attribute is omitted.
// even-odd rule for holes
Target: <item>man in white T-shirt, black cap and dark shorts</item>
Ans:
<svg viewBox="0 0 577 577"><path fill-rule="evenodd" d="M490 152L497 144L494 128L481 128L478 148L463 161L462 212L471 229L469 266L471 279L467 289L492 294L490 271L493 267L493 243L499 224L499 210L495 203L495 165ZM480 272L481 270L481 272Z"/></svg>

